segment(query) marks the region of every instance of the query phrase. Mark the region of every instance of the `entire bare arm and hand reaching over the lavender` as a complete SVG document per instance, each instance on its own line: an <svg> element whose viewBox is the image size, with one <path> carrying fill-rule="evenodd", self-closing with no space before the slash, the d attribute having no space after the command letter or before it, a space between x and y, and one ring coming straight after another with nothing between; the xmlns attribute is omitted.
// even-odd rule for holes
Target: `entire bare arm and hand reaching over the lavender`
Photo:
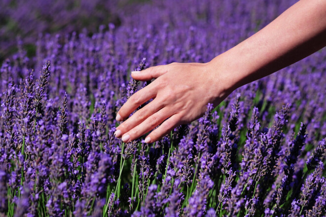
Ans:
<svg viewBox="0 0 326 217"><path fill-rule="evenodd" d="M244 84L285 68L326 46L326 0L300 0L262 30L208 63L171 63L131 72L155 80L122 106L115 136L127 143L153 130L158 141L180 124L204 115ZM143 103L154 99L128 116ZM128 119L127 119L128 118Z"/></svg>

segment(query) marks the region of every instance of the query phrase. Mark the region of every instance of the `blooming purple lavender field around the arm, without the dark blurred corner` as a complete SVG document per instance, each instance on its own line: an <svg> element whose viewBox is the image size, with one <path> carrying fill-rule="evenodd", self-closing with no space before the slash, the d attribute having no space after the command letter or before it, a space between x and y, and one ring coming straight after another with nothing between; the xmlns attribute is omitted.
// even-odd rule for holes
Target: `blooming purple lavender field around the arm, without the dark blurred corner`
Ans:
<svg viewBox="0 0 326 217"><path fill-rule="evenodd" d="M149 84L131 71L208 62L295 2L117 3L119 24L21 37L0 67L0 217L326 216L325 48L158 142L114 137Z"/></svg>

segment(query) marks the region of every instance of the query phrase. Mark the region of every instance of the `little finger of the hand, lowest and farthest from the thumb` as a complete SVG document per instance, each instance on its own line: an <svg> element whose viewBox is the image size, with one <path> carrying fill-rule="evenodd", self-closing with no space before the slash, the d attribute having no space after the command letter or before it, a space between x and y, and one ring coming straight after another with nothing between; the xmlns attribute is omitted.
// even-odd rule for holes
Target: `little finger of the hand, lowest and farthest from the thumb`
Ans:
<svg viewBox="0 0 326 217"><path fill-rule="evenodd" d="M163 136L169 134L171 130L180 125L181 115L174 114L167 120L165 120L161 126L151 132L145 139L145 143L154 143L161 139Z"/></svg>

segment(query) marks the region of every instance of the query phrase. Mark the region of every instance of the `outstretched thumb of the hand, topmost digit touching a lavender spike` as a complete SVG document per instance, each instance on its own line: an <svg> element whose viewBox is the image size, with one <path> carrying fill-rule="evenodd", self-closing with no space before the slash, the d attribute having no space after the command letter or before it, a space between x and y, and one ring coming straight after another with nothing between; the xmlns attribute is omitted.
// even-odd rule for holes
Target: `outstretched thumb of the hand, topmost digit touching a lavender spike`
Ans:
<svg viewBox="0 0 326 217"><path fill-rule="evenodd" d="M147 81L153 78L158 78L167 71L168 67L166 65L154 66L143 71L133 71L131 72L131 76L135 80Z"/></svg>

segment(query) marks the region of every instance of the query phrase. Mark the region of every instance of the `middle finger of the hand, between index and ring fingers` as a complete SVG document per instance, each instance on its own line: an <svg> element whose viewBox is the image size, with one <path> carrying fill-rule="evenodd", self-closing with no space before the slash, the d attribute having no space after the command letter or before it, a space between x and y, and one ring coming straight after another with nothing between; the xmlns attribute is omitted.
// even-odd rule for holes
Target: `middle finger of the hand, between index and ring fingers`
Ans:
<svg viewBox="0 0 326 217"><path fill-rule="evenodd" d="M160 103L157 99L153 100L149 104L147 104L144 108L136 111L131 117L125 120L122 124L120 124L117 129L115 136L121 137L121 135L125 134L132 128L139 125L146 118L156 113L158 110L163 108L163 103Z"/></svg>

